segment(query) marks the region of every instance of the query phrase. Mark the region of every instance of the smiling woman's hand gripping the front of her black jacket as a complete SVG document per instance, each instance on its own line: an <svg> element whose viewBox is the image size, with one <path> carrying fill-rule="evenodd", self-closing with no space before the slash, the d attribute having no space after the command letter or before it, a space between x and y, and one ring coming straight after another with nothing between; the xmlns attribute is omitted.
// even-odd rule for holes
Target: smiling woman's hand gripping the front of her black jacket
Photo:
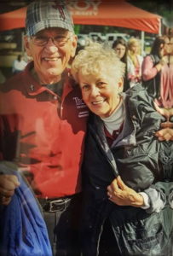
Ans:
<svg viewBox="0 0 173 256"><path fill-rule="evenodd" d="M118 206L142 207L144 205L142 195L126 186L120 176L107 187L107 195L109 200Z"/></svg>

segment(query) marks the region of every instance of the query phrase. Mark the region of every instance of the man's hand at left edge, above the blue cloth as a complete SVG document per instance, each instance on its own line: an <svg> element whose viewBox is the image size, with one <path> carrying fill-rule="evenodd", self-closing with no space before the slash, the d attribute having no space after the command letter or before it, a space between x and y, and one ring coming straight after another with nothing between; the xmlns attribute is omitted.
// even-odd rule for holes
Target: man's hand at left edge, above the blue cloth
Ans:
<svg viewBox="0 0 173 256"><path fill-rule="evenodd" d="M0 204L8 205L20 183L15 175L0 175Z"/></svg>

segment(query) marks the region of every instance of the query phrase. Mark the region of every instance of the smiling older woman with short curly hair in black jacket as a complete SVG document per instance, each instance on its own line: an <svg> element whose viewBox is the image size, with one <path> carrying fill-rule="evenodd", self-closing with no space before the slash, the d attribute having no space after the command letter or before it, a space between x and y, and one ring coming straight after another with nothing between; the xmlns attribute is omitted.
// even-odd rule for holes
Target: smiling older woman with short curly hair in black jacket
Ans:
<svg viewBox="0 0 173 256"><path fill-rule="evenodd" d="M106 223L107 255L161 255L164 148L154 132L163 117L140 84L121 93L124 63L113 49L90 44L72 62L72 75L91 112L83 172L84 256L98 255Z"/></svg>

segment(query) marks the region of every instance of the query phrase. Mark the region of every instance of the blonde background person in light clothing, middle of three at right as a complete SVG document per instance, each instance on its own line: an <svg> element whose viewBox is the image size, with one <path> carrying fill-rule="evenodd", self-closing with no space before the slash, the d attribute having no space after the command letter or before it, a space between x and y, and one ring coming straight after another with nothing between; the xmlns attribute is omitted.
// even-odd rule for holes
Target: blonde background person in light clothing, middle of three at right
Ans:
<svg viewBox="0 0 173 256"><path fill-rule="evenodd" d="M130 87L141 82L142 61L143 57L140 55L140 41L137 38L130 38L127 53L127 76L130 81Z"/></svg>

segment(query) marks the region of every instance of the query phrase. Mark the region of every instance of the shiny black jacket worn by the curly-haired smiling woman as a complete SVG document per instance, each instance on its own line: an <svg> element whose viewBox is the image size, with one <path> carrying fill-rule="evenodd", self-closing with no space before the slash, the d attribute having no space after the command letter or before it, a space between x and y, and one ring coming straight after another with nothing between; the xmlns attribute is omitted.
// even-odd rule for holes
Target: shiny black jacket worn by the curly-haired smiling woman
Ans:
<svg viewBox="0 0 173 256"><path fill-rule="evenodd" d="M104 221L109 218L120 255L162 255L166 243L161 213L154 212L164 181L164 167L159 155L163 144L154 137L164 118L153 108L153 99L141 85L124 96L123 131L109 148L102 120L91 114L84 154L84 214L82 244L84 256L98 255ZM136 207L119 207L107 199L107 185L118 176L136 191L145 191L151 207L145 211ZM155 253L155 254L154 254ZM165 252L164 252L165 253ZM163 254L164 255L164 254Z"/></svg>

